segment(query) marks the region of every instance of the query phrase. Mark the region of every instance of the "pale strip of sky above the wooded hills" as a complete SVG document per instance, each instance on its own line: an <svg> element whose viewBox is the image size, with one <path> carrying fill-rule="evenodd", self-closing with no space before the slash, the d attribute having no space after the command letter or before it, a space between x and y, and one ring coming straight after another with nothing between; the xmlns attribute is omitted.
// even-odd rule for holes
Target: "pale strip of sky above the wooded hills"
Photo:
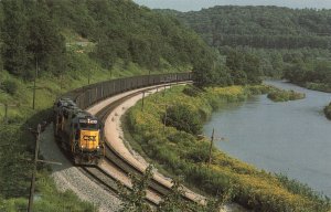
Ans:
<svg viewBox="0 0 331 212"><path fill-rule="evenodd" d="M214 6L279 6L288 8L331 9L331 0L134 0L151 9L197 11Z"/></svg>

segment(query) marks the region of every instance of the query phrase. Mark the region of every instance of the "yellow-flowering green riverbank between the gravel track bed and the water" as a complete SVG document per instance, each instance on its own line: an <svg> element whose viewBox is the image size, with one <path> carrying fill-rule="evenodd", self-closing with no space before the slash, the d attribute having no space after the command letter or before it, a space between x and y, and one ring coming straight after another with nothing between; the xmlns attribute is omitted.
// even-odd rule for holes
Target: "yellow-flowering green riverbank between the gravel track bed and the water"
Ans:
<svg viewBox="0 0 331 212"><path fill-rule="evenodd" d="M164 104L168 107L184 105L190 110L188 116L206 119L222 104L244 100L249 94L261 89L232 86L206 88L188 95L188 92L183 93L183 88L175 87L167 91L164 97L148 97L142 112L140 104L131 108L128 114L130 131L149 158L173 174L183 174L189 183L206 193L232 190L233 201L258 211L328 211L330 205L325 205L324 200L311 190L298 190L296 188L303 187L257 170L220 150L213 149L212 163L207 166L207 139L180 131L167 121L163 128L167 110Z"/></svg>

